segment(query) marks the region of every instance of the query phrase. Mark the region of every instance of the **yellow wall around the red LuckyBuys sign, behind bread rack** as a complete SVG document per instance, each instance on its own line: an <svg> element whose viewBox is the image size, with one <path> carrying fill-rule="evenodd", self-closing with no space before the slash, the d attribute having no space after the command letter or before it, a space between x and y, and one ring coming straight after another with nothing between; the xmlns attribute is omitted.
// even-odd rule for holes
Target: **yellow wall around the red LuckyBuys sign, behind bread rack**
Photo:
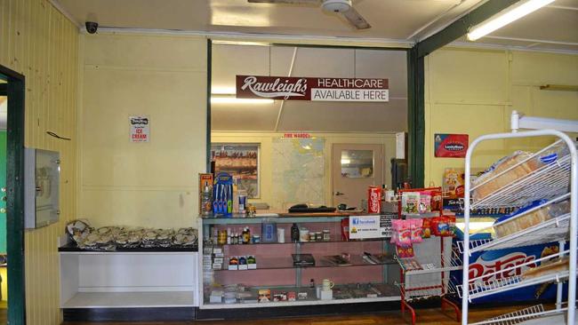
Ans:
<svg viewBox="0 0 578 325"><path fill-rule="evenodd" d="M578 55L445 48L425 61L425 184L439 185L446 167L464 159L434 157L435 133L467 133L470 142L510 131L512 109L526 115L578 120L578 92L539 86L578 84ZM478 147L472 167L486 168L512 150L536 150L548 140L495 141Z"/></svg>

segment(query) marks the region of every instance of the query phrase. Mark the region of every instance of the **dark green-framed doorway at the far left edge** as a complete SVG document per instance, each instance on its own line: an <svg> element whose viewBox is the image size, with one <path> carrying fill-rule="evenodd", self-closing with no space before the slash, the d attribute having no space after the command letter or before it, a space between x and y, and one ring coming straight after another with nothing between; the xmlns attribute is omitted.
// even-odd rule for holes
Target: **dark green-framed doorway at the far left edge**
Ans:
<svg viewBox="0 0 578 325"><path fill-rule="evenodd" d="M5 179L5 190L0 197L2 197L3 207L5 204L5 253L7 257L7 263L4 266L7 279L3 274L2 286L7 285L8 298L8 308L0 310L0 320L10 324L25 324L24 182L22 181L24 178L24 75L0 66L0 81L0 97L4 98L7 112L5 171L0 169ZM0 159L4 158L0 156ZM0 181L2 178L0 177ZM1 186L4 187L4 184ZM2 226L0 223L0 235ZM1 241L0 238L0 243ZM4 299L4 295L2 298Z"/></svg>

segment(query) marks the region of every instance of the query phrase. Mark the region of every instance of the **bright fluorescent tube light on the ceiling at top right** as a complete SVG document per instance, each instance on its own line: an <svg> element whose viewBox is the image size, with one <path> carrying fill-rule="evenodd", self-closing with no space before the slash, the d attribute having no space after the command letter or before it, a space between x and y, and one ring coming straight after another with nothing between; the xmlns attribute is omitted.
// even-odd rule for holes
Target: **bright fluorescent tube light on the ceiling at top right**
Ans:
<svg viewBox="0 0 578 325"><path fill-rule="evenodd" d="M498 28L502 28L514 20L518 20L526 16L530 12L535 12L536 10L542 8L544 5L553 3L554 0L527 0L521 4L512 5L510 8L506 8L494 15L494 17L489 20L484 21L478 26L471 28L468 33L468 39L470 41L475 41L480 37L486 36L492 33Z"/></svg>

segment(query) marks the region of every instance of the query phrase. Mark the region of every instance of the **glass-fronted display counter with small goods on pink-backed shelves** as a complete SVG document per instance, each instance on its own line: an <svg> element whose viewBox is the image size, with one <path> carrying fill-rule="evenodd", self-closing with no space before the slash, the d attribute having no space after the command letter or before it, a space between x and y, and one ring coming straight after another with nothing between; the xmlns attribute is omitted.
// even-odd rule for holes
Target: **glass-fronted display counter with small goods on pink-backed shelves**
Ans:
<svg viewBox="0 0 578 325"><path fill-rule="evenodd" d="M389 237L352 240L347 227L347 213L199 218L200 308L398 301Z"/></svg>

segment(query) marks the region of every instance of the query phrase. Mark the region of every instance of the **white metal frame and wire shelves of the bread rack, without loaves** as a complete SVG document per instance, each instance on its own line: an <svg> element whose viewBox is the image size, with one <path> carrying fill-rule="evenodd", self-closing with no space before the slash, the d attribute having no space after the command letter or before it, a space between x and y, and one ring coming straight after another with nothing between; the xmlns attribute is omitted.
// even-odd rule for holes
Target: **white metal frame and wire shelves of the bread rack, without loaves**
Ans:
<svg viewBox="0 0 578 325"><path fill-rule="evenodd" d="M538 123L539 119L532 118L532 125L549 125L562 131L578 131L578 123L572 121L558 121L548 119L547 124ZM508 313L492 319L477 322L475 324L534 324L534 323L553 323L552 320L566 321L567 324L574 324L575 321L575 299L576 299L576 239L578 234L578 156L574 141L565 133L557 130L536 130L536 131L519 131L519 127L529 127L518 113L512 113L512 132L500 133L482 136L473 141L466 155L465 165L465 198L464 198L464 241L459 243L459 248L463 252L463 281L462 285L457 287L458 294L462 297L462 325L468 324L468 309L471 299L486 297L498 292L504 292L511 289L518 289L536 284L556 282L558 283L557 304L554 310L545 311L542 305L533 306L524 310ZM528 157L526 160L503 170L501 173L486 179L486 182L500 178L505 173L517 168L522 163L531 159L538 158L544 153L550 152L554 146L566 146L567 155L558 156L553 163L544 163L542 167L531 171L526 176L511 181L509 184L502 186L493 193L486 195L480 200L472 200L471 193L477 187L472 187L471 160L472 155L480 143L490 140L500 139L521 139L535 137L555 137L558 140L549 147L544 147L541 151ZM478 186L483 186L480 184ZM541 209L554 202L570 200L570 213L551 218L538 225L528 227L514 234L509 234L495 240L471 241L470 242L470 210L478 208L503 208L503 207L520 207L526 203L536 200L547 200L541 206L532 210L527 210L515 218L523 218L534 210ZM490 278L497 273L514 270L522 266L530 266L537 262L542 262L550 258L569 258L568 270L558 273L546 273L542 276L526 278L524 274L515 275L508 278L496 277L497 280L483 281L482 278L470 279L470 253L482 250L501 250L514 247L522 247L546 242L559 242L559 252L545 258L538 258L524 265L512 266L508 269L502 269L499 272L484 274L484 277ZM565 243L569 242L569 248L565 250ZM562 283L568 282L568 301L564 307L562 300ZM564 317L566 316L566 317Z"/></svg>

